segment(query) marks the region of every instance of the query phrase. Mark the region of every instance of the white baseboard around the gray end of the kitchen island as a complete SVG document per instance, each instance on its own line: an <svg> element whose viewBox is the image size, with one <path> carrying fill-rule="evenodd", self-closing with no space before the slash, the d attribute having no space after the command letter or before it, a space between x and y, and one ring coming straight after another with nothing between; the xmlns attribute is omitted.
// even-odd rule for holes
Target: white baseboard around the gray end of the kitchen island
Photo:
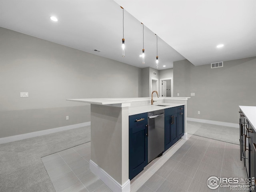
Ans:
<svg viewBox="0 0 256 192"><path fill-rule="evenodd" d="M130 180L128 179L123 185L118 183L106 171L100 168L96 163L90 160L90 170L100 178L114 192L130 192Z"/></svg>

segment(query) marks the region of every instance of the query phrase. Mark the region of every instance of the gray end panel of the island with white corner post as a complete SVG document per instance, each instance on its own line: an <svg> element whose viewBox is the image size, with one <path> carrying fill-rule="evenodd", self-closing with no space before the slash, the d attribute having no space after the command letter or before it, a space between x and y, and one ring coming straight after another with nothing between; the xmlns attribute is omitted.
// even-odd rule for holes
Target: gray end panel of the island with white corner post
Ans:
<svg viewBox="0 0 256 192"><path fill-rule="evenodd" d="M91 160L123 185L129 181L128 107L91 104Z"/></svg>

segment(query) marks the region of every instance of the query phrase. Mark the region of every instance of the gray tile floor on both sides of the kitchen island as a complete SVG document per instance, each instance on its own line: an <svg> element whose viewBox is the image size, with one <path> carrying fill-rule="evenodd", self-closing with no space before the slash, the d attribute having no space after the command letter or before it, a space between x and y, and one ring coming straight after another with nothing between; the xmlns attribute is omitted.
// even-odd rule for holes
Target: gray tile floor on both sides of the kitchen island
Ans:
<svg viewBox="0 0 256 192"><path fill-rule="evenodd" d="M239 145L189 135L150 162L131 180L131 192L225 192L206 185L210 176L245 178ZM42 162L56 192L111 192L89 168L90 142L49 156Z"/></svg>

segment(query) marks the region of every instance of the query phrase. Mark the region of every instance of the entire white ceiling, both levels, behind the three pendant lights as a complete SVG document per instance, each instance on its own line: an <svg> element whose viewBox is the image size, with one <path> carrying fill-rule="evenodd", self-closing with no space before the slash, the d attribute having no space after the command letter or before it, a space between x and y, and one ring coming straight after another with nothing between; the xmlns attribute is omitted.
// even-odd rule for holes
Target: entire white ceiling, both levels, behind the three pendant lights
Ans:
<svg viewBox="0 0 256 192"><path fill-rule="evenodd" d="M256 56L256 0L0 0L0 26L140 68L155 68L155 34L159 70L185 58L201 65Z"/></svg>

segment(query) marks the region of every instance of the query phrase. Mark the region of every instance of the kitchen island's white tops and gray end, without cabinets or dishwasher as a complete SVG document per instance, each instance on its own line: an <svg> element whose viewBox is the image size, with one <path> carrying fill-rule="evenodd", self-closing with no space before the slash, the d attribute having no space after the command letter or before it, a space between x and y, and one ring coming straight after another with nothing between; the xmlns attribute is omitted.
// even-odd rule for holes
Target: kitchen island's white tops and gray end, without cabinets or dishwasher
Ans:
<svg viewBox="0 0 256 192"><path fill-rule="evenodd" d="M188 98L67 99L91 104L90 170L114 192L129 192L129 116L184 105L184 136ZM158 106L162 105L162 106ZM164 106L163 106L164 105Z"/></svg>

